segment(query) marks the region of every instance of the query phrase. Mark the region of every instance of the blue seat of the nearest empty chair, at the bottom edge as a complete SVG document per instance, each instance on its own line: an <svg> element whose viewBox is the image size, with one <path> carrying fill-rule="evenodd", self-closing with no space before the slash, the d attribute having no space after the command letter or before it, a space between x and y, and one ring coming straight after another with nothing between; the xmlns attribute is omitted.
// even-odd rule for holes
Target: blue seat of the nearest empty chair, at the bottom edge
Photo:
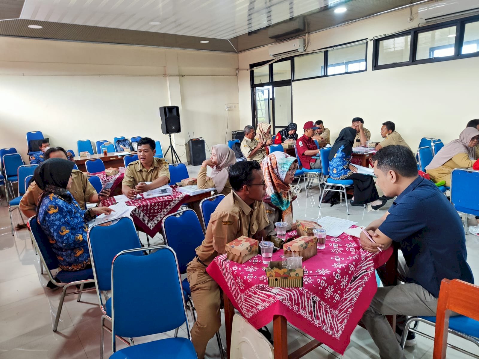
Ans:
<svg viewBox="0 0 479 359"><path fill-rule="evenodd" d="M198 358L188 338L167 338L118 350L110 359L190 359Z"/></svg>

